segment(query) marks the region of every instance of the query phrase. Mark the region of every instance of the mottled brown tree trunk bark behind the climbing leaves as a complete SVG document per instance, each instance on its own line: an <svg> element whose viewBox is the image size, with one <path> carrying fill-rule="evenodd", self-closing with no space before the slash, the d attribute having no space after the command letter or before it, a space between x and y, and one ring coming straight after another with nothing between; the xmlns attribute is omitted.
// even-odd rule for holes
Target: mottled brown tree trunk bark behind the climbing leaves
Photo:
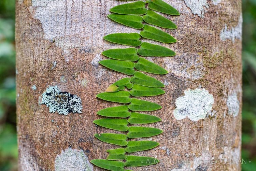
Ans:
<svg viewBox="0 0 256 171"><path fill-rule="evenodd" d="M165 15L178 29L163 29L177 43L143 41L169 47L177 55L147 58L169 71L160 76L149 74L165 83L166 94L140 98L163 106L144 113L160 117L161 122L148 126L164 132L145 139L158 141L160 146L133 154L156 157L160 163L130 169L240 170L241 1L166 2L181 13ZM126 77L98 65L99 60L106 59L101 55L103 50L126 47L106 42L102 37L116 32L139 32L106 17L110 8L122 3L127 2L17 1L19 170L91 170L88 159L104 159L106 149L117 148L93 135L119 132L97 127L93 120L102 118L97 116L98 110L118 105L99 100L96 94ZM50 113L41 99L49 86L80 97L82 113Z"/></svg>

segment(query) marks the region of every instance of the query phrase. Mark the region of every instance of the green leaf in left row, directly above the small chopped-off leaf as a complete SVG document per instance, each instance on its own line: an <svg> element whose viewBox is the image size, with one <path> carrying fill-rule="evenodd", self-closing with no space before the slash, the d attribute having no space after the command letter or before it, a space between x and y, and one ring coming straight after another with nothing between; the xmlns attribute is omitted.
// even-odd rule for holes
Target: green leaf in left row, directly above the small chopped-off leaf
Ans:
<svg viewBox="0 0 256 171"><path fill-rule="evenodd" d="M128 144L127 136L125 134L117 134L117 133L101 133L101 134L94 134L96 138L100 141L115 144L120 146L126 146Z"/></svg>

